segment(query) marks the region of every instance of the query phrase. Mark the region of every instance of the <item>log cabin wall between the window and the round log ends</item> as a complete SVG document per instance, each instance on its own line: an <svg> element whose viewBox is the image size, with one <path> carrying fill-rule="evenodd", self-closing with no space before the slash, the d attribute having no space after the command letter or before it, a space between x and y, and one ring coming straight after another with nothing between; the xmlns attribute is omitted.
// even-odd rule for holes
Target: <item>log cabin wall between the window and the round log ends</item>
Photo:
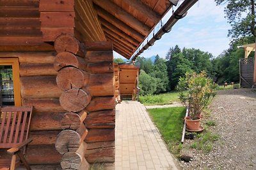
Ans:
<svg viewBox="0 0 256 170"><path fill-rule="evenodd" d="M63 108L53 67L56 52L0 52L1 57L18 57L22 106L35 106L31 121L26 159L29 164L60 164L61 155L54 147L61 131ZM1 152L5 153L5 152Z"/></svg>

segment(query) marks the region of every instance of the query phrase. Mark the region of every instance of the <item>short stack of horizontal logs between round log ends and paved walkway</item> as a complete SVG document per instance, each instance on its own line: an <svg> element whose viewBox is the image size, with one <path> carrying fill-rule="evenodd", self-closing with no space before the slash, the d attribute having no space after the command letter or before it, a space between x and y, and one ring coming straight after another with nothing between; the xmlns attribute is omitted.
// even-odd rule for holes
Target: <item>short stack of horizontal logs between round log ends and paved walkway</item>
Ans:
<svg viewBox="0 0 256 170"><path fill-rule="evenodd" d="M109 41L85 42L88 90L92 101L84 124L88 134L85 158L90 164L115 162L115 76L113 45Z"/></svg>

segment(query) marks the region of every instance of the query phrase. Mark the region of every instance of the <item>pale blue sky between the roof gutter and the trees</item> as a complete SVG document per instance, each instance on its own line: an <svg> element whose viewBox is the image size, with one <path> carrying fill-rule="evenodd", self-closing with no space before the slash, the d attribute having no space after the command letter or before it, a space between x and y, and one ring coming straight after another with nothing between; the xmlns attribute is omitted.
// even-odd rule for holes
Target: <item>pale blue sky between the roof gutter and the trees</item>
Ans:
<svg viewBox="0 0 256 170"><path fill-rule="evenodd" d="M180 2L181 3L181 2ZM175 11L177 7L173 8ZM172 15L172 10L163 18L163 24ZM160 29L157 25L155 32ZM217 57L228 48L230 38L227 38L230 24L225 18L224 6L216 6L214 0L199 0L189 9L188 15L180 19L172 27L172 31L164 34L153 46L141 53L141 57L159 55L165 57L169 48L179 45L180 48L196 48L209 52ZM150 34L149 39L152 38ZM120 57L114 53L115 57Z"/></svg>

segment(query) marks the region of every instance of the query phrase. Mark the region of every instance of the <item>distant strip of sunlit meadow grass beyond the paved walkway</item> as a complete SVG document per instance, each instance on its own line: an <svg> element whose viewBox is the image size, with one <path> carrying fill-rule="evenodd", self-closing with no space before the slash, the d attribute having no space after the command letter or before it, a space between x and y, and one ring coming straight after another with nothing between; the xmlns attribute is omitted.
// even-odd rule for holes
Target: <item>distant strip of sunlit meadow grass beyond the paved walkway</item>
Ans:
<svg viewBox="0 0 256 170"><path fill-rule="evenodd" d="M173 101L179 101L179 93L176 91L157 95L140 96L140 102L145 106L172 104Z"/></svg>

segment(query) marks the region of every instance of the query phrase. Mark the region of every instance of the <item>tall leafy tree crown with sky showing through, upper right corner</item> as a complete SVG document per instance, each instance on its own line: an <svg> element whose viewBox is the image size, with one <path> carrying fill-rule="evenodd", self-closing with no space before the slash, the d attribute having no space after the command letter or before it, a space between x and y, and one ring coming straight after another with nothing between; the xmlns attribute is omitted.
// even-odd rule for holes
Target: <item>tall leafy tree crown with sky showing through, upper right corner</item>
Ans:
<svg viewBox="0 0 256 170"><path fill-rule="evenodd" d="M232 27L228 30L228 36L231 38L256 37L255 0L215 0L215 2L217 5L227 4L225 13Z"/></svg>

